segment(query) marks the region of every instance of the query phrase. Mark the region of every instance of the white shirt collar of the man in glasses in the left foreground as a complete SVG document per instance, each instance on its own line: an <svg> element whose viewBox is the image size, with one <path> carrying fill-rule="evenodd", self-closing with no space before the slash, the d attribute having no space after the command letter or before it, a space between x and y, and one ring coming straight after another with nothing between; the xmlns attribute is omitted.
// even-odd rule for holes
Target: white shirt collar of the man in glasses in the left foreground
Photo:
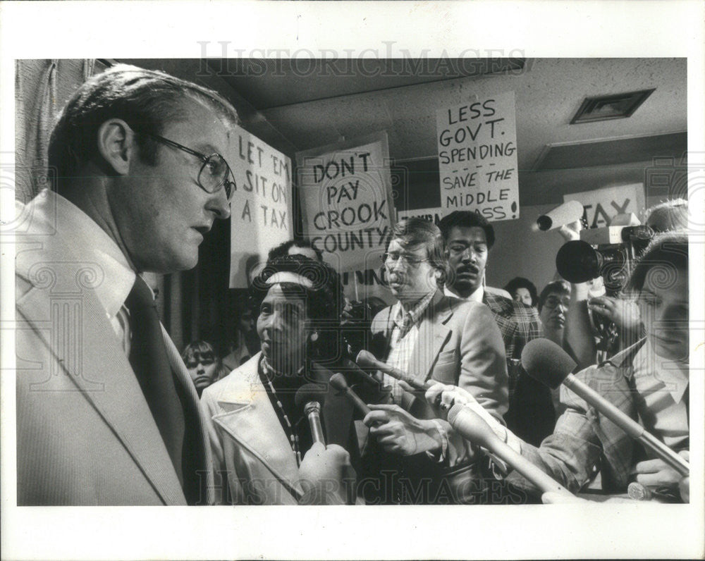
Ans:
<svg viewBox="0 0 705 561"><path fill-rule="evenodd" d="M135 271L116 242L78 206L49 191L39 205L56 205L59 235L73 248L77 260L91 261L102 269L103 280L95 287L95 295L113 319L120 311L135 283Z"/></svg>

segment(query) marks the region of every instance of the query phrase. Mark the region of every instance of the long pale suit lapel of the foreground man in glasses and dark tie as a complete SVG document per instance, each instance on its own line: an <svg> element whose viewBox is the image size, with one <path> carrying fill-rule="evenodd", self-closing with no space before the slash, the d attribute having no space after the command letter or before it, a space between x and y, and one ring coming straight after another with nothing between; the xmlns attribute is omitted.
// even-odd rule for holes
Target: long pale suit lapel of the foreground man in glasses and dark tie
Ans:
<svg viewBox="0 0 705 561"><path fill-rule="evenodd" d="M45 330L35 327L56 364L61 364L60 372L50 373L49 383L53 375L66 376L73 382L121 440L164 503L185 505L176 472L137 378L92 290L82 290L73 297L68 309L76 314L75 323L68 328L57 327L71 318L60 297L52 298L47 294L49 290L52 288L32 288L17 303L27 323L35 325L41 318L51 326ZM61 311L52 317L56 309ZM72 328L72 332L68 331Z"/></svg>

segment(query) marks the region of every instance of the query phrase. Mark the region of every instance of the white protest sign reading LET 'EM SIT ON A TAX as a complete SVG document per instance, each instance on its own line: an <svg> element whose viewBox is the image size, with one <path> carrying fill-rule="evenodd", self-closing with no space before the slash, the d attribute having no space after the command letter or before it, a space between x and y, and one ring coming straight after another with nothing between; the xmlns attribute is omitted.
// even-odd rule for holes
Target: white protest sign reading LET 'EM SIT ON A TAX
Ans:
<svg viewBox="0 0 705 561"><path fill-rule="evenodd" d="M235 178L231 202L230 288L247 288L247 269L293 238L291 160L242 128L228 154Z"/></svg>

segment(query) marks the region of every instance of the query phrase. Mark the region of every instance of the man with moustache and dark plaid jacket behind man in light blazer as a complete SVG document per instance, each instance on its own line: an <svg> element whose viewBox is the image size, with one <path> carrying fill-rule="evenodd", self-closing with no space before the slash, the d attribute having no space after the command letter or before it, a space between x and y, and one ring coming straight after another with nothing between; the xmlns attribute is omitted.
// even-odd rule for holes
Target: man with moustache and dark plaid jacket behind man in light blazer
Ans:
<svg viewBox="0 0 705 561"><path fill-rule="evenodd" d="M524 345L541 337L539 314L533 307L489 292L484 274L494 228L480 214L455 211L439 223L446 242L450 280L446 295L482 302L489 307L502 333L509 373L507 426L529 443L538 445L553 431L556 414L551 392L530 378L521 367Z"/></svg>

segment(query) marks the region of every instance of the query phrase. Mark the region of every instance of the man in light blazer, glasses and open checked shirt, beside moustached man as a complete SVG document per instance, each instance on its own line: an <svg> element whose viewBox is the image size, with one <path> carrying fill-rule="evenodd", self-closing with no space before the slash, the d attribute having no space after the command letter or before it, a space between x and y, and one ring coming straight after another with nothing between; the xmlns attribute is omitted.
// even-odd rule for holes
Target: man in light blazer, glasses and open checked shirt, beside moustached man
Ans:
<svg viewBox="0 0 705 561"><path fill-rule="evenodd" d="M446 259L441 232L422 218L402 221L391 231L384 254L386 279L398 302L383 309L372 321L372 351L376 356L414 376L453 383L480 402L501 421L507 410L507 370L501 334L489 309L480 302L462 302L443 294ZM399 479L430 482L430 488L416 494L413 502L436 502L439 489L459 469L474 470L470 448L448 448L446 421L434 419L433 410L422 399L384 375L392 386L392 404L374 406L364 419L374 442L396 457L376 466L400 468ZM427 438L407 440L404 422L425 427ZM461 443L462 448L462 443ZM446 450L453 450L446 457ZM424 453L427 452L427 453ZM400 462L398 455L405 457ZM375 454L368 452L367 457ZM431 457L432 456L432 457ZM408 502L394 488L380 489L385 502ZM448 487L447 502L472 502L472 490ZM416 491L411 491L412 495ZM425 494L424 494L425 493ZM440 501L439 501L440 502Z"/></svg>

